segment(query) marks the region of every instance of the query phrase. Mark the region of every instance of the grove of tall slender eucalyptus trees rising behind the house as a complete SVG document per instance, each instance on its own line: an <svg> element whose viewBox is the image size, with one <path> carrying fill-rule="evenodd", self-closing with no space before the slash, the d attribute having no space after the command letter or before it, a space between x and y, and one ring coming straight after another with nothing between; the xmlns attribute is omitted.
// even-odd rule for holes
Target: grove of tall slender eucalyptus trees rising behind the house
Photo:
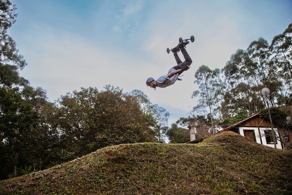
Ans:
<svg viewBox="0 0 292 195"><path fill-rule="evenodd" d="M238 121L235 119L238 110L256 114L267 104L270 107L283 106L287 114L287 105L292 100L291 51L292 23L282 34L275 36L271 44L260 37L245 50L238 49L226 62L221 74L217 69L202 65L195 74L195 83L200 90L194 91L192 97L200 99L193 112L207 115L206 109L209 108L212 120L220 123L226 119L231 119L231 123ZM270 89L266 97L261 94L263 87Z"/></svg>

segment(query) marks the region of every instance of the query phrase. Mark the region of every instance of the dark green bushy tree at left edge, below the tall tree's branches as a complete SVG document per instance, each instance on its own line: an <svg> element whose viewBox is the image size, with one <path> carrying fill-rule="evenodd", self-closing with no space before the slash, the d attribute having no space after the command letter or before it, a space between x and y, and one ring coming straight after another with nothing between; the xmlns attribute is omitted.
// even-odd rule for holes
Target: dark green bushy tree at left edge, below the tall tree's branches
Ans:
<svg viewBox="0 0 292 195"><path fill-rule="evenodd" d="M6 158L2 166L7 168L1 169L1 176L7 175L12 168L16 176L18 157L23 154L28 129L36 115L15 89L0 88L0 97L1 151L5 151L0 158Z"/></svg>

